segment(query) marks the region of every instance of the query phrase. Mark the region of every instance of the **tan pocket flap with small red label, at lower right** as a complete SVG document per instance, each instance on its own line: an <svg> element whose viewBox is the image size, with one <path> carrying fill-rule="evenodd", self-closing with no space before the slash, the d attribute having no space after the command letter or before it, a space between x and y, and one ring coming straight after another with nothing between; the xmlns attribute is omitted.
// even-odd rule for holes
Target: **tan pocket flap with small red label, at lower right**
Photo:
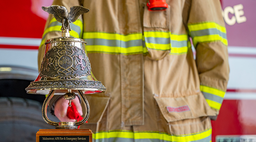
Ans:
<svg viewBox="0 0 256 142"><path fill-rule="evenodd" d="M207 104L202 93L180 98L154 95L154 98L162 115L168 122L216 115L216 112Z"/></svg>

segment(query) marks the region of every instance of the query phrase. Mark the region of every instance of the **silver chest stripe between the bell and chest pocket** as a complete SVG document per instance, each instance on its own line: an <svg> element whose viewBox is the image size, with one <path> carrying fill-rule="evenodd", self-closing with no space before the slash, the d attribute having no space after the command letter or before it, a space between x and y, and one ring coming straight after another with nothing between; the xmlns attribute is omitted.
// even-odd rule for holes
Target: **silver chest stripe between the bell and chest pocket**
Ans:
<svg viewBox="0 0 256 142"><path fill-rule="evenodd" d="M84 40L87 42L86 45L104 45L104 46L123 47L123 48L143 45L142 39L122 41L122 40L109 40L109 39L102 39L102 38L86 38Z"/></svg>

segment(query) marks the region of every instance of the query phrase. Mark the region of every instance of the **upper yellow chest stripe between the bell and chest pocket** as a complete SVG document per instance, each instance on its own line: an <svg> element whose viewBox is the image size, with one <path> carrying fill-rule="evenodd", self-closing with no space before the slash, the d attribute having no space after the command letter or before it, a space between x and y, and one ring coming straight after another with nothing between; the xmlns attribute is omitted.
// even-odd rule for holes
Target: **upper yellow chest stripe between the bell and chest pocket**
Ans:
<svg viewBox="0 0 256 142"><path fill-rule="evenodd" d="M101 38L108 40L122 40L130 41L142 39L142 33L130 33L128 35L122 35L118 33L103 33L103 32L85 32L83 33L83 39L86 38Z"/></svg>

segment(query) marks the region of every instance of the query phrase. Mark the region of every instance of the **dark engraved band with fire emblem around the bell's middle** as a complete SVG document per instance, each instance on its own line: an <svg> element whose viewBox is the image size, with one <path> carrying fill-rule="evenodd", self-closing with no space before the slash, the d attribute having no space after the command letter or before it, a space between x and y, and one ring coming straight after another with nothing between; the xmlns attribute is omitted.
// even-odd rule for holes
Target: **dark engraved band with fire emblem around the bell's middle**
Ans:
<svg viewBox="0 0 256 142"><path fill-rule="evenodd" d="M91 65L82 48L70 42L59 42L49 50L42 62L40 76L71 79L91 74Z"/></svg>

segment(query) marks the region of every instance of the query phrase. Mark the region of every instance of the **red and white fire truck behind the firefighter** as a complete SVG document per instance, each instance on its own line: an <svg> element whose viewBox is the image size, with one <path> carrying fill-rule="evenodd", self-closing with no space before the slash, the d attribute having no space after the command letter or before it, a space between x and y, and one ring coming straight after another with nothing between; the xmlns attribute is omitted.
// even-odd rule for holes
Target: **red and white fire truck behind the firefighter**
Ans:
<svg viewBox="0 0 256 142"><path fill-rule="evenodd" d="M11 2L1 2L0 133L10 141L30 141L21 135L34 137L39 128L51 127L41 116L45 96L29 95L24 89L38 75L38 47L48 17L41 6L50 6L52 0ZM220 114L212 121L212 141L256 141L256 0L221 0L221 4L230 79Z"/></svg>

